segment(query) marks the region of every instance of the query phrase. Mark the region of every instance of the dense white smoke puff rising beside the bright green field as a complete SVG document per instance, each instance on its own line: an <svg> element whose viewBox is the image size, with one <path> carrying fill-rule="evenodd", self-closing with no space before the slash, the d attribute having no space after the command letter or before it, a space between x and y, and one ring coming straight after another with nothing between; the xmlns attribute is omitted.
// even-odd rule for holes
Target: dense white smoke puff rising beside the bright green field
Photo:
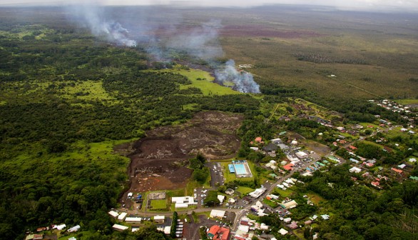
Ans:
<svg viewBox="0 0 418 240"><path fill-rule="evenodd" d="M237 71L235 61L230 59L225 66L215 70L215 76L222 84L233 83L233 89L242 93L260 94L260 86L254 81L253 75L246 71Z"/></svg>

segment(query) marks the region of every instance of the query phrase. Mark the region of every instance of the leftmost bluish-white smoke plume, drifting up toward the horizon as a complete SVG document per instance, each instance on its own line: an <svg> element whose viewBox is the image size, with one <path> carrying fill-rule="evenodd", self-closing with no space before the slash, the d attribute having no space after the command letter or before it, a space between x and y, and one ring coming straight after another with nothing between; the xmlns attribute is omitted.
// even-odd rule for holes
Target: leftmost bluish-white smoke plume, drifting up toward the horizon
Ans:
<svg viewBox="0 0 418 240"><path fill-rule="evenodd" d="M95 36L104 36L107 41L121 46L136 46L136 41L129 39L128 29L117 21L107 19L103 9L97 4L72 5L68 7L73 21L88 27Z"/></svg>

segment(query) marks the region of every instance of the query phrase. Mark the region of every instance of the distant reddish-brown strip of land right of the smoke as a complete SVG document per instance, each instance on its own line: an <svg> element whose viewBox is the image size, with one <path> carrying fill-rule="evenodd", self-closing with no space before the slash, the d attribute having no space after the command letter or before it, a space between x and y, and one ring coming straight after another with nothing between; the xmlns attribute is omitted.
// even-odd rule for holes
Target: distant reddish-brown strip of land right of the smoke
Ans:
<svg viewBox="0 0 418 240"><path fill-rule="evenodd" d="M282 39L297 39L304 37L323 36L315 31L280 31L261 25L228 25L220 31L221 36L259 36L277 37Z"/></svg>

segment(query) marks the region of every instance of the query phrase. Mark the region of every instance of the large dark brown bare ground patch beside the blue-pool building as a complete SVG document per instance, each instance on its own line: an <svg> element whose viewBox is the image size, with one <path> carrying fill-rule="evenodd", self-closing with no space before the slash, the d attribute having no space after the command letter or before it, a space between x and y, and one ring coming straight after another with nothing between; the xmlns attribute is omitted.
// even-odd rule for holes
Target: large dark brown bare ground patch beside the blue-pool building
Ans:
<svg viewBox="0 0 418 240"><path fill-rule="evenodd" d="M235 131L242 121L239 114L204 111L186 124L163 126L133 144L118 146L116 151L131 151L129 191L185 188L192 174L186 167L190 156L198 152L208 159L235 156L240 146Z"/></svg>

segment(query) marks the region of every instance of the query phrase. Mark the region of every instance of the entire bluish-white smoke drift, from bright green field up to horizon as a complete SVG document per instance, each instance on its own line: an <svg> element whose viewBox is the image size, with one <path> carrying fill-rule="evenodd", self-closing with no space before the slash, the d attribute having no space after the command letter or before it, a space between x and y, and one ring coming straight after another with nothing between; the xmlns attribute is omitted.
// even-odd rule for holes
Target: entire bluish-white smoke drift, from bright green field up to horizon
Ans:
<svg viewBox="0 0 418 240"><path fill-rule="evenodd" d="M221 84L233 84L233 89L243 93L260 93L253 75L245 71L238 72L233 60L225 65L215 60L224 55L219 42L218 32L222 28L219 20L193 26L182 24L179 21L180 17L164 8L146 8L139 13L128 9L116 9L113 13L106 13L105 8L91 3L71 6L70 11L74 21L88 27L96 36L106 37L107 41L121 46L136 46L138 40L157 61L170 61L167 50L184 51L190 56L208 62L215 69L216 81ZM161 14L161 11L164 11L164 14ZM126 16L126 12L136 16ZM125 27L112 19L112 14L133 29L136 40L130 37Z"/></svg>

